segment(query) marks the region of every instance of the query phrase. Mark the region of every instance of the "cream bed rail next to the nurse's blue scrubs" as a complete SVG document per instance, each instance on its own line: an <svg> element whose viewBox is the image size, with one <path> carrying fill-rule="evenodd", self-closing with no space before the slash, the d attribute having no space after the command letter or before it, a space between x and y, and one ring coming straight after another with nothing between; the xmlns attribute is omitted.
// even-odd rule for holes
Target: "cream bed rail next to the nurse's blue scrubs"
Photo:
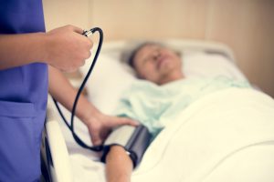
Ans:
<svg viewBox="0 0 274 182"><path fill-rule="evenodd" d="M42 136L41 160L44 181L73 181L65 139L50 108Z"/></svg>

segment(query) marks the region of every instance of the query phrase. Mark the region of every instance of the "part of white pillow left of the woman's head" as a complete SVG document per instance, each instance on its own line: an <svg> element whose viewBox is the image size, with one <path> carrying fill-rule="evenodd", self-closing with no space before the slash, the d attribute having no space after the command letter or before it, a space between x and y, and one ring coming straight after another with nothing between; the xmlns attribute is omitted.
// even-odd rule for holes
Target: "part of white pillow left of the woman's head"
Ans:
<svg viewBox="0 0 274 182"><path fill-rule="evenodd" d="M85 64L80 68L83 76L88 73L90 65L91 63ZM110 56L103 54L99 56L86 88L90 101L101 112L111 114L118 103L121 92L136 79L126 67L121 61Z"/></svg>

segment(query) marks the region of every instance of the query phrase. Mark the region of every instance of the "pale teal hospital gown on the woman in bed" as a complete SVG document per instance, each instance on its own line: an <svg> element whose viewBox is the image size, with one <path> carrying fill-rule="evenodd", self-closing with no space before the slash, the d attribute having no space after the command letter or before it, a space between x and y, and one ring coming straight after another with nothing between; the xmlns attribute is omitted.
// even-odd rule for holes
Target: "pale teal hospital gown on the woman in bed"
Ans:
<svg viewBox="0 0 274 182"><path fill-rule="evenodd" d="M154 137L186 106L202 96L229 87L250 85L247 81L225 76L185 78L163 86L138 80L123 93L114 115L131 117L141 122Z"/></svg>

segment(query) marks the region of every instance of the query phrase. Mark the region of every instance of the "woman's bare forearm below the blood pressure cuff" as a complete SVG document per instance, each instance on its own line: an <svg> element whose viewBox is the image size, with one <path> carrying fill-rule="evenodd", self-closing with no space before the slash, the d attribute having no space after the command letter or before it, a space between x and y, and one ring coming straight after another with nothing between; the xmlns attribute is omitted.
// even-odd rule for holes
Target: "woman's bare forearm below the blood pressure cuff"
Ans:
<svg viewBox="0 0 274 182"><path fill-rule="evenodd" d="M132 159L121 146L112 146L106 157L107 182L130 182Z"/></svg>

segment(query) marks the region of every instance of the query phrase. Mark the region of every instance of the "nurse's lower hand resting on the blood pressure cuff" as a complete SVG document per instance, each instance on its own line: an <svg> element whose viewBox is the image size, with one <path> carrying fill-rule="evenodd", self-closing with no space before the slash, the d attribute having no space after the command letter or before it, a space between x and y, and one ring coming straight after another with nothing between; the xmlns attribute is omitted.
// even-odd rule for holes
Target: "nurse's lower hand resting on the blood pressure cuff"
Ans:
<svg viewBox="0 0 274 182"><path fill-rule="evenodd" d="M86 124L89 128L91 141L94 146L101 145L103 141L107 138L107 136L110 134L111 129L115 126L138 126L138 122L130 118L106 116L103 114L90 118L90 120Z"/></svg>

